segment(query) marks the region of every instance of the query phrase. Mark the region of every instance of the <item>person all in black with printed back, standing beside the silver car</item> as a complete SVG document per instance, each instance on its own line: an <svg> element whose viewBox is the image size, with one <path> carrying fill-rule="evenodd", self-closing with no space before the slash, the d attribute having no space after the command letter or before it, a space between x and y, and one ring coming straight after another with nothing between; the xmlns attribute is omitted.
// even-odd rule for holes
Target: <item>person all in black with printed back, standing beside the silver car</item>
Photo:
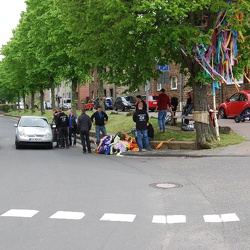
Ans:
<svg viewBox="0 0 250 250"><path fill-rule="evenodd" d="M56 127L59 131L59 141L60 141L60 147L61 148L69 148L69 133L68 133L68 126L69 126L69 118L68 116L62 112L61 109L57 110L57 123Z"/></svg>

